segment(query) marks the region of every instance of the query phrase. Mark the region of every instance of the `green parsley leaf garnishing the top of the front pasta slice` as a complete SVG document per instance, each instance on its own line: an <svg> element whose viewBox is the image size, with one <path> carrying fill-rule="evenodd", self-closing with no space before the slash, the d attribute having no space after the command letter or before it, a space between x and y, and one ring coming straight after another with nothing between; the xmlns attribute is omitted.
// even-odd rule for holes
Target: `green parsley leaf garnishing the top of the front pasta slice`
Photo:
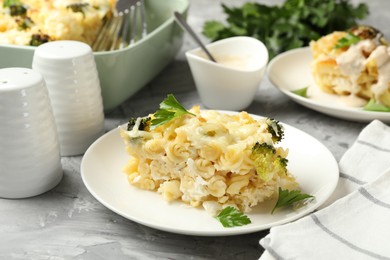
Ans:
<svg viewBox="0 0 390 260"><path fill-rule="evenodd" d="M195 116L195 114L187 111L172 94L168 94L160 103L160 109L154 113L154 118L151 121L151 128L156 128L185 114Z"/></svg>

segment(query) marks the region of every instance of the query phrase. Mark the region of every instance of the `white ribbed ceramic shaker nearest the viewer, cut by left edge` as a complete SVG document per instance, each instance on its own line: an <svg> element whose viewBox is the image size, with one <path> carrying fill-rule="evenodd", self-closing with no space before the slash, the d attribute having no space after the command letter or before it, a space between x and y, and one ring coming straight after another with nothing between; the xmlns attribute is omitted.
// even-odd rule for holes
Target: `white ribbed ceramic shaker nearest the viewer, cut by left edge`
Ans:
<svg viewBox="0 0 390 260"><path fill-rule="evenodd" d="M62 179L56 124L43 77L0 69L0 197L44 193Z"/></svg>

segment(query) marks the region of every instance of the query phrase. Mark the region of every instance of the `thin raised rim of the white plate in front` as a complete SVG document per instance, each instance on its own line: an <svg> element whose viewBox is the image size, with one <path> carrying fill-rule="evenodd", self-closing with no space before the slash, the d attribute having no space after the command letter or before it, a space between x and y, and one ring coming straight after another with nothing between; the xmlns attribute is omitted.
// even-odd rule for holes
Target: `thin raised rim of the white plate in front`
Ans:
<svg viewBox="0 0 390 260"><path fill-rule="evenodd" d="M238 113L238 112L235 112L235 111L227 111L227 110L218 110L222 113L230 113L230 114L235 114L235 113ZM260 119L260 118L263 118L263 116L260 116L260 115L254 115L254 114L250 114L249 115L253 116L256 120ZM306 210L302 210L296 214L294 214L292 217L287 217L287 218L283 218L281 220L278 220L278 221L274 221L274 222L271 222L271 223L268 223L268 224L263 224L259 227L256 227L256 226L250 226L250 225L246 225L246 226L240 226L240 227L234 227L234 228L225 228L225 229L222 229L222 230L214 230L214 231L203 231L203 230L187 230L187 229L180 229L180 228L172 228L172 227L166 227L166 226L161 226L161 225L158 225L158 224L153 224L153 223L150 223L150 222L147 222L147 221L142 221L136 217L133 217L133 216L130 216L129 214L126 214L124 212L124 210L120 210L118 209L117 207L111 205L110 203L108 203L106 200L104 200L104 198L102 198L97 192L96 190L90 185L89 181L88 181L88 178L87 178L87 173L86 173L86 170L85 170L85 162L86 160L88 160L89 156L90 156L90 153L93 152L93 150L101 145L102 143L104 143L105 139L106 138L110 138L112 135L116 135L118 139L121 139L120 135L119 135L119 129L118 127L117 128L114 128L110 131L108 131L107 133L105 133L104 135L102 135L100 138L98 138L93 144L91 144L91 146L87 149L87 151L85 152L82 160L81 160L81 164L80 164L80 173L81 173L81 178L82 178L82 181L84 183L84 185L86 186L87 190L91 193L91 195L99 202L101 203L103 206L105 206L106 208L108 208L109 210L115 212L116 214L128 219L128 220L131 220L135 223L138 223L138 224L141 224L141 225L144 225L144 226L147 226L147 227L150 227L150 228L154 228L154 229L157 229L157 230L161 230L161 231L165 231L165 232L170 232L170 233L174 233L174 234L182 234L182 235L195 235L195 236L231 236L231 235L242 235L242 234L250 234L250 233L254 233L254 232L259 232L259 231L262 231L262 230L266 230L266 229L269 229L273 226L277 226L277 225L281 225L281 224L285 224L285 223L288 223L288 222L292 222L292 221L295 221L299 218L302 218L308 214L310 214L311 212L315 211L316 209L318 209L321 205L323 205L330 197L331 195L333 194L334 190L336 189L336 186L337 186L337 183L338 183L338 180L339 180L339 167L338 167L338 163L334 157L334 155L330 152L330 150L324 145L322 144L318 139L316 139L315 137L313 137L312 135L296 128L296 127L293 127L291 125L288 125L288 124L285 124L283 122L281 122L282 125L284 126L287 126L287 128L291 128L292 130L294 131L299 131L301 132L302 134L306 135L307 137L309 137L312 141L316 142L318 145L320 145L323 150L328 154L329 156L329 159L331 159L331 162L332 162L332 168L334 168L334 179L333 179L333 182L332 183L327 183L327 185L331 185L330 187L327 187L327 189L329 189L328 191L328 194L326 194L326 196L323 196L322 198L322 201L320 201L319 203L316 202L316 204L313 206L313 207L308 207ZM123 148L125 148L125 145L123 144ZM123 152L125 153L125 149L123 149ZM317 190L318 192L318 190ZM161 203L163 203L164 201L161 201ZM202 210L202 209L199 209L199 210ZM251 213L249 213L250 215ZM212 218L212 216L210 216L210 218Z"/></svg>

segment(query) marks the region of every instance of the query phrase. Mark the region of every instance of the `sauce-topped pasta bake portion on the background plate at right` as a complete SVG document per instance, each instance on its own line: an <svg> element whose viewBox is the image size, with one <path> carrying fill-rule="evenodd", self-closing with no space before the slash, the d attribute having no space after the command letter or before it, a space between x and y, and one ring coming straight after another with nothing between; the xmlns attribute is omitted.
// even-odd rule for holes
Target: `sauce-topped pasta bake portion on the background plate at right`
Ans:
<svg viewBox="0 0 390 260"><path fill-rule="evenodd" d="M353 107L370 100L390 107L390 46L378 30L357 26L335 31L310 47L312 75L323 91Z"/></svg>

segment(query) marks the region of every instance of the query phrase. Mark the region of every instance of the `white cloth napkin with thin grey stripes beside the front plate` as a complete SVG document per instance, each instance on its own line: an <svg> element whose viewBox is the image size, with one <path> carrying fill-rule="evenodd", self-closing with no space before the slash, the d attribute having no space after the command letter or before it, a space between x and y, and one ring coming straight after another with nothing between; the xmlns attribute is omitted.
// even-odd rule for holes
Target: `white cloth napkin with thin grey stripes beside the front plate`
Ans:
<svg viewBox="0 0 390 260"><path fill-rule="evenodd" d="M271 228L260 240L264 255L390 259L390 127L372 121L343 155L339 168L332 199L340 199L300 220Z"/></svg>

